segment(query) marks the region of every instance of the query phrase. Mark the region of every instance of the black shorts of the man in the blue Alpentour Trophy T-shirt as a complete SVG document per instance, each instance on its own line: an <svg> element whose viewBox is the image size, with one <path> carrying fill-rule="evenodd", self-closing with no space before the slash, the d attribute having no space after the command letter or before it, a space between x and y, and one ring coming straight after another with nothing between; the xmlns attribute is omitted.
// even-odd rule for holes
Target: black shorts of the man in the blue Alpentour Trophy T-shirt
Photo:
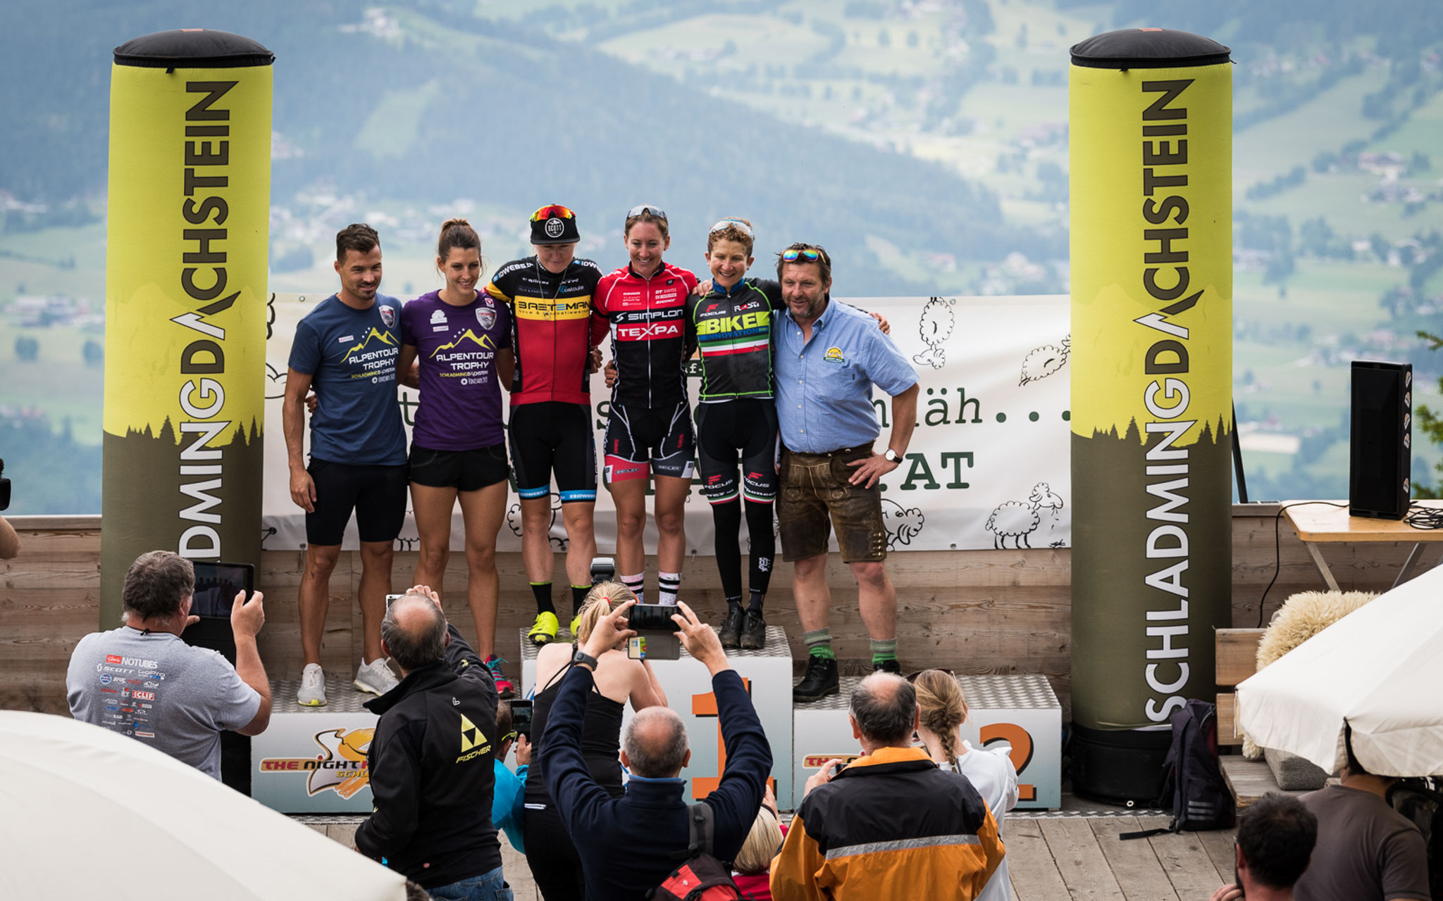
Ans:
<svg viewBox="0 0 1443 901"><path fill-rule="evenodd" d="M306 542L339 545L352 510L361 541L395 541L405 522L405 470L404 463L352 466L312 457L306 471L316 483L316 509L306 513Z"/></svg>

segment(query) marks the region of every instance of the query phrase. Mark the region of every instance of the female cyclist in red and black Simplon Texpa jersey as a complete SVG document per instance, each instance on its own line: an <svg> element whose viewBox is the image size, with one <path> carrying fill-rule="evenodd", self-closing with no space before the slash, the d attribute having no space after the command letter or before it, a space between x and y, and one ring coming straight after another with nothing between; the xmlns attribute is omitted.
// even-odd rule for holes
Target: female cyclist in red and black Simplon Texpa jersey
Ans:
<svg viewBox="0 0 1443 901"><path fill-rule="evenodd" d="M602 471L616 503L616 568L638 598L645 572L646 477L657 476L658 600L675 604L694 451L683 369L688 356L684 314L697 277L662 262L671 238L661 209L632 208L623 234L631 264L603 275L595 300L596 311L610 321L616 363Z"/></svg>

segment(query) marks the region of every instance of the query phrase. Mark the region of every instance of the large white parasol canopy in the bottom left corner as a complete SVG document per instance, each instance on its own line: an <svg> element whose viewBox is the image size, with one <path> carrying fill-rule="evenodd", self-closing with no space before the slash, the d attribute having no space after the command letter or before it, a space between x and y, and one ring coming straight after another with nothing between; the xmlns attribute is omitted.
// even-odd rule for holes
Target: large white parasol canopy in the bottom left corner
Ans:
<svg viewBox="0 0 1443 901"><path fill-rule="evenodd" d="M405 898L398 872L68 716L0 711L0 771L3 898Z"/></svg>

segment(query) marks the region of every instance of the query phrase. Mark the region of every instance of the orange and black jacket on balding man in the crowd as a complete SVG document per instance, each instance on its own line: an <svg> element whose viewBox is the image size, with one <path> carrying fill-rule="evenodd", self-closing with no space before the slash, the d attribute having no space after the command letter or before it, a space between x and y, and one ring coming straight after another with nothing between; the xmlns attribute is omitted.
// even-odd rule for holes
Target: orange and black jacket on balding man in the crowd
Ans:
<svg viewBox="0 0 1443 901"><path fill-rule="evenodd" d="M970 781L921 748L879 748L807 794L772 861L772 898L971 901L1003 853Z"/></svg>

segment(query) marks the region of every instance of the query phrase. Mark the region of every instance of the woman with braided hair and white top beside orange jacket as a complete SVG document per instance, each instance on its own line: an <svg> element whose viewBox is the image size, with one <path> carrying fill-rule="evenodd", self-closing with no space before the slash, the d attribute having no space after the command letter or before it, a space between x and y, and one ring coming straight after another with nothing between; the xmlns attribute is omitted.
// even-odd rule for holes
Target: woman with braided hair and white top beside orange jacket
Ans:
<svg viewBox="0 0 1443 901"><path fill-rule="evenodd" d="M973 783L977 794L991 809L997 820L997 835L1001 836L1003 817L1017 806L1017 768L1013 767L1007 748L977 750L962 740L967 699L957 676L942 669L925 669L906 679L916 688L916 705L921 708L916 734L926 745L932 761L942 770L965 776ZM1007 858L1001 859L977 898L978 901L1012 898Z"/></svg>

